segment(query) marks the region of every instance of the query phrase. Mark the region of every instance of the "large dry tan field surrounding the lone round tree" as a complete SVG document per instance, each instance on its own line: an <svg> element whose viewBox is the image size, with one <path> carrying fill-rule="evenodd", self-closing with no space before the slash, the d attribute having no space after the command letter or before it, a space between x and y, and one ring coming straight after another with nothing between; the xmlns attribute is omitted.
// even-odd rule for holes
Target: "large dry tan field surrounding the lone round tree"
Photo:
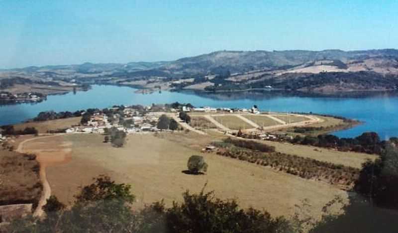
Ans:
<svg viewBox="0 0 398 233"><path fill-rule="evenodd" d="M56 150L70 149L70 160L62 157L47 167L52 194L65 203L100 174L131 184L137 197L135 208L161 199L170 206L182 201L185 190L199 192L205 183L206 191L214 190L221 199L235 198L244 208L264 208L274 216L292 215L295 205L307 200L310 215L319 218L322 207L336 195L347 198L345 192L327 184L211 153L202 154L209 165L206 175L182 173L191 155L200 154L204 145L220 137L191 132L135 134L128 136L125 147L114 148L98 134L71 134L29 141L25 147L53 150L53 157L65 156ZM54 149L57 144L64 147Z"/></svg>

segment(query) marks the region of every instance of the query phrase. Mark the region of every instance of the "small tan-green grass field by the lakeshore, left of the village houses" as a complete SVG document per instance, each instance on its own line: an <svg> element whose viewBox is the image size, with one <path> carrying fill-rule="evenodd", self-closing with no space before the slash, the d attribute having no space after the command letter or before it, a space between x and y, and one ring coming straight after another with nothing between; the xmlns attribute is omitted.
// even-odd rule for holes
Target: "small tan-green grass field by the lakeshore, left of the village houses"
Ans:
<svg viewBox="0 0 398 233"><path fill-rule="evenodd" d="M46 133L47 130L56 130L62 128L68 128L73 124L80 123L81 117L70 117L65 119L55 119L46 121L32 121L26 123L15 124L15 130L23 130L26 127L35 127L39 130L39 133Z"/></svg>

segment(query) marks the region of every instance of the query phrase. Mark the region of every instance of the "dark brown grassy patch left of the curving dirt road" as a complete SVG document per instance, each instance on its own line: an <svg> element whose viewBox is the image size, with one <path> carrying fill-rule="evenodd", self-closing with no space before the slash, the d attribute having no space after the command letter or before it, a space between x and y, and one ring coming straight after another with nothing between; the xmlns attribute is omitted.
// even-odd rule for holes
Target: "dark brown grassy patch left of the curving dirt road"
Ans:
<svg viewBox="0 0 398 233"><path fill-rule="evenodd" d="M0 205L34 203L42 191L34 158L0 149Z"/></svg>

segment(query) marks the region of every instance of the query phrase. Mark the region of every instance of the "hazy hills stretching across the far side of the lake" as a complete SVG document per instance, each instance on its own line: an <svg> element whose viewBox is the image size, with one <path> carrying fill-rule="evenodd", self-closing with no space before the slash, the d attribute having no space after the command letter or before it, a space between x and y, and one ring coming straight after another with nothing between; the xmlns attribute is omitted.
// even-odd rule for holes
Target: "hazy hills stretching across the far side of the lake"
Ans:
<svg viewBox="0 0 398 233"><path fill-rule="evenodd" d="M175 61L84 63L1 70L0 82L4 78L17 77L37 82L60 82L60 85L74 80L78 84L207 91L272 86L306 92L336 92L395 90L397 76L397 49L224 50ZM10 85L12 80L6 86Z"/></svg>

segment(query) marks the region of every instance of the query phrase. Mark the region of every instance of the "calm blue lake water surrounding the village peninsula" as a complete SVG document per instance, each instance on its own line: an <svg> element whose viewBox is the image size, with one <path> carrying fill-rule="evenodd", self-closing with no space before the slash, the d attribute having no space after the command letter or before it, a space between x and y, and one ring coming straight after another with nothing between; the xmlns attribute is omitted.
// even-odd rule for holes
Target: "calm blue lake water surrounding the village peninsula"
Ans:
<svg viewBox="0 0 398 233"><path fill-rule="evenodd" d="M385 139L398 136L398 97L372 98L319 98L276 96L277 93L200 94L162 92L136 94L135 89L116 86L93 86L88 92L48 96L38 104L0 106L0 125L13 124L33 118L39 112L53 110L77 111L88 108L106 108L112 105L172 102L191 103L195 106L250 108L257 105L263 111L313 112L331 114L365 121L363 125L335 132L342 137L354 137L364 131L376 131Z"/></svg>

